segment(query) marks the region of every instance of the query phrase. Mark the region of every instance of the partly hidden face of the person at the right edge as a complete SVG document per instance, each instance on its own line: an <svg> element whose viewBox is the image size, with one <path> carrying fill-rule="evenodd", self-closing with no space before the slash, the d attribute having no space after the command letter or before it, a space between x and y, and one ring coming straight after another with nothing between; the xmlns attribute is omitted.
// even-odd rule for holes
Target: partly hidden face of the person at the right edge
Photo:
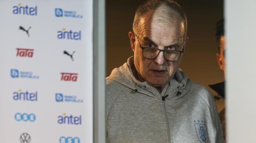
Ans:
<svg viewBox="0 0 256 143"><path fill-rule="evenodd" d="M221 36L220 39L220 53L216 54L216 58L218 61L218 64L220 66L220 69L224 71L224 75L225 75L225 36Z"/></svg>

